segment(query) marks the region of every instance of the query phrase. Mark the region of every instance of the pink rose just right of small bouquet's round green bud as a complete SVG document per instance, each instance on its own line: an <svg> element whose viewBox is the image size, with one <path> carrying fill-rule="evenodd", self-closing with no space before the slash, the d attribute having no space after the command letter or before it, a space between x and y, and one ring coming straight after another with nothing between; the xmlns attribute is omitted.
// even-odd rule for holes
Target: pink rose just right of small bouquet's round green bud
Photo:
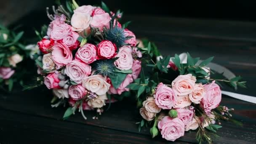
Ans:
<svg viewBox="0 0 256 144"><path fill-rule="evenodd" d="M195 114L194 107L178 108L176 111L178 112L178 118L184 123L185 127L192 121Z"/></svg>

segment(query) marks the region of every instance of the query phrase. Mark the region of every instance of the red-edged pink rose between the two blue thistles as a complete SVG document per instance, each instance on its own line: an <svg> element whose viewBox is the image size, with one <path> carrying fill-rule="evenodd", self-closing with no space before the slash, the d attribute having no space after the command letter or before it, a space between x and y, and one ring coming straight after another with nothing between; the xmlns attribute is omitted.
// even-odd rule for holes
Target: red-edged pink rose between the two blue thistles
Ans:
<svg viewBox="0 0 256 144"><path fill-rule="evenodd" d="M98 44L96 59L111 59L116 55L117 47L109 40Z"/></svg>

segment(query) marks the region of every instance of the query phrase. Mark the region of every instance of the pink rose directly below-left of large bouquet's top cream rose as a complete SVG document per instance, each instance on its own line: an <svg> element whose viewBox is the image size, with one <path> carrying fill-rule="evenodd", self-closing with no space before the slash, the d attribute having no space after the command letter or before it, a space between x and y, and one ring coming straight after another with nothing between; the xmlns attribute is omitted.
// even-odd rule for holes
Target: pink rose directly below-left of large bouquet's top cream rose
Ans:
<svg viewBox="0 0 256 144"><path fill-rule="evenodd" d="M71 31L71 27L68 24L60 24L51 31L51 39L62 40Z"/></svg>

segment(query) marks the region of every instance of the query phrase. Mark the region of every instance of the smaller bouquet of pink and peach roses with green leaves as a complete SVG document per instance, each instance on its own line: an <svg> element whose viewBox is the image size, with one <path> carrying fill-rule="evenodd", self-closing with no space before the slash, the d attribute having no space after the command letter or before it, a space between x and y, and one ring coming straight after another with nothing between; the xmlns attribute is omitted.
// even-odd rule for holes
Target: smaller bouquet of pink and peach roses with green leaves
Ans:
<svg viewBox="0 0 256 144"><path fill-rule="evenodd" d="M212 142L211 136L221 128L221 120L232 120L231 111L220 106L221 83L235 88L245 87L241 77L215 79L214 70L207 67L213 57L201 61L189 53L160 58L152 67L149 76L141 76L127 88L137 91L142 127L151 125L152 137L159 133L168 141L184 136L185 131L197 130L196 140Z"/></svg>

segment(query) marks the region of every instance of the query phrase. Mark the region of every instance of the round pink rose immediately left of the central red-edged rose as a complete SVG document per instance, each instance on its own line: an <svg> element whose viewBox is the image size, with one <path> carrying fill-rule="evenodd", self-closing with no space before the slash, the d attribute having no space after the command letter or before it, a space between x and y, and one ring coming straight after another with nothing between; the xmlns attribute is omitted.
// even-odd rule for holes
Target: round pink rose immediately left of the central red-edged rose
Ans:
<svg viewBox="0 0 256 144"><path fill-rule="evenodd" d="M91 64L93 61L96 61L96 49L95 45L87 43L83 47L78 48L75 58L85 62L85 64Z"/></svg>

